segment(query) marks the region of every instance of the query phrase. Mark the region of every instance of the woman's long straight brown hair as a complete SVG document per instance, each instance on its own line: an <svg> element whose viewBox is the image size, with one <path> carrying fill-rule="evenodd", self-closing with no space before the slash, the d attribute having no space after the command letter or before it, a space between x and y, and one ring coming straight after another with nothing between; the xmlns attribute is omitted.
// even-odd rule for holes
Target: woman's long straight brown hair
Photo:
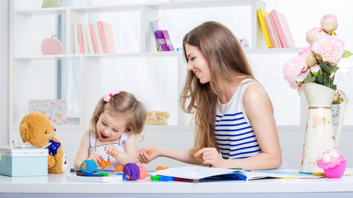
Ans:
<svg viewBox="0 0 353 198"><path fill-rule="evenodd" d="M205 84L200 83L193 71L188 71L179 100L184 112L195 111L195 146L190 151L194 156L201 148L211 147L219 151L214 136L216 106L217 98L222 99L222 95L228 96L225 85L240 83L246 78L255 79L240 43L223 24L208 21L184 36L184 58L188 62L186 44L200 49L211 68L210 82ZM189 99L190 103L186 105ZM198 160L202 163L201 157L198 157Z"/></svg>

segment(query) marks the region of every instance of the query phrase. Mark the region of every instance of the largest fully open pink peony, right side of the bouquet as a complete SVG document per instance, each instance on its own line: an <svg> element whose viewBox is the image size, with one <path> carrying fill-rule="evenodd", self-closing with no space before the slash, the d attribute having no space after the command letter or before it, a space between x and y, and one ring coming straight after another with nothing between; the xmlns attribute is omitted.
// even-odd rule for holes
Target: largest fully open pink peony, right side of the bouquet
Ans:
<svg viewBox="0 0 353 198"><path fill-rule="evenodd" d="M323 61L337 64L345 53L345 43L336 37L327 36L314 42L311 50L320 54Z"/></svg>

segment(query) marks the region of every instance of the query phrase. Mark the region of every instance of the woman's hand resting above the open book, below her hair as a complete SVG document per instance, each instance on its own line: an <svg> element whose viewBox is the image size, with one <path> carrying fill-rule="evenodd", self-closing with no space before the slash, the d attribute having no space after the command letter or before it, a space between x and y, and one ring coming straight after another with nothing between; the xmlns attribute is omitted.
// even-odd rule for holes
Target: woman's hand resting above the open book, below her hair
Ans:
<svg viewBox="0 0 353 198"><path fill-rule="evenodd" d="M194 156L202 156L203 164L211 164L214 168L223 168L224 159L216 148L202 148Z"/></svg>

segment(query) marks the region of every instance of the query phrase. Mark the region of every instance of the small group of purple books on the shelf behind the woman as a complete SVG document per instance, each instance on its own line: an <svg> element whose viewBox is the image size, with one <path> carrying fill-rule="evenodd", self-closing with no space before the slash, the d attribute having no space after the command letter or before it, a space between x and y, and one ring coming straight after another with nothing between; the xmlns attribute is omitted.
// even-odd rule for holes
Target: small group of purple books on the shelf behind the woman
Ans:
<svg viewBox="0 0 353 198"><path fill-rule="evenodd" d="M159 30L157 22L151 22L157 51L174 51L167 30Z"/></svg>

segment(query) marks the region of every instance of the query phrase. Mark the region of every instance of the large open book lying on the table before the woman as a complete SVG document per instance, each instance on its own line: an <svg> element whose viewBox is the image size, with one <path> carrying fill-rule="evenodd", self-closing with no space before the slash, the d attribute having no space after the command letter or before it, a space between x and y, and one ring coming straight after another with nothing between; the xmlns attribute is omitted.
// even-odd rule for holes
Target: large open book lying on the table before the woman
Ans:
<svg viewBox="0 0 353 198"><path fill-rule="evenodd" d="M260 178L320 178L325 176L314 176L305 173L292 171L243 171L226 168L210 168L204 166L185 166L168 168L152 172L152 175L171 176L185 179L203 179L207 177L233 179L233 180L253 180Z"/></svg>

